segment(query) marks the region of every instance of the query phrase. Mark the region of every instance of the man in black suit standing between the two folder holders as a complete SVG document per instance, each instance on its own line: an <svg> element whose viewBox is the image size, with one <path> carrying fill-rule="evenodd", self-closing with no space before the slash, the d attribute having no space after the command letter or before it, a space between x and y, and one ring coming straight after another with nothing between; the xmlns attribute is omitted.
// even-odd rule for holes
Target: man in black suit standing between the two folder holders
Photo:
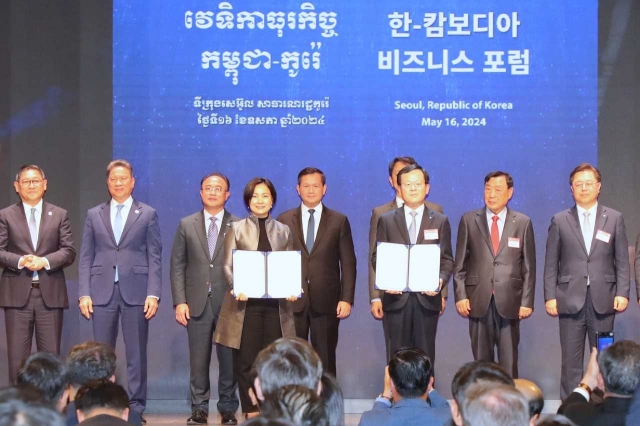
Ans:
<svg viewBox="0 0 640 426"><path fill-rule="evenodd" d="M351 313L356 285L356 254L349 219L322 204L326 177L315 167L298 173L300 207L278 217L302 252L302 298L293 304L296 335L311 338L325 371L336 375L341 319Z"/></svg>

